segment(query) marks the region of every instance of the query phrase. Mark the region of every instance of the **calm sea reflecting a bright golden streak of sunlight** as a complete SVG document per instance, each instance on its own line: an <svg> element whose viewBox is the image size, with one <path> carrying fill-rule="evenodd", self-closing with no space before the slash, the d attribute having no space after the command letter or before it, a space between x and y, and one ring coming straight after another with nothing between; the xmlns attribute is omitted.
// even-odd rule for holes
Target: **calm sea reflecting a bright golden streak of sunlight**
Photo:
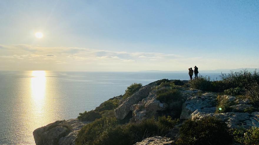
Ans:
<svg viewBox="0 0 259 145"><path fill-rule="evenodd" d="M212 79L219 73L204 73ZM34 129L76 118L132 83L188 80L188 72L0 71L0 144L35 144Z"/></svg>

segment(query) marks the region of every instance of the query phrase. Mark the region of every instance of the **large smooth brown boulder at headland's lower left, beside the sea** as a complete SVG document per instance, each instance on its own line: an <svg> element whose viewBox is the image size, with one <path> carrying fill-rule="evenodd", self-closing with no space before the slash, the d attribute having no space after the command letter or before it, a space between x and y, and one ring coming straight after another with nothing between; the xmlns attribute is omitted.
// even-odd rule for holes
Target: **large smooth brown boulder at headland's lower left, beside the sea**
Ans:
<svg viewBox="0 0 259 145"><path fill-rule="evenodd" d="M87 122L77 119L56 121L33 131L36 145L74 145L78 131Z"/></svg>

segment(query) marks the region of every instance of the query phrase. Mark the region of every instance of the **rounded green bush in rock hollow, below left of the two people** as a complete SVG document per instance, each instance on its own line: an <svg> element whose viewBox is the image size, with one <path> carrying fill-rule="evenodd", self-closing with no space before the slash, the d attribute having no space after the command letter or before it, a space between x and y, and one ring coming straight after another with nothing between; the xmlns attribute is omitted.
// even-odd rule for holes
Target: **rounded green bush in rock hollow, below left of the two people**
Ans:
<svg viewBox="0 0 259 145"><path fill-rule="evenodd" d="M157 100L169 104L172 101L182 100L181 92L177 89L161 89L156 92Z"/></svg>

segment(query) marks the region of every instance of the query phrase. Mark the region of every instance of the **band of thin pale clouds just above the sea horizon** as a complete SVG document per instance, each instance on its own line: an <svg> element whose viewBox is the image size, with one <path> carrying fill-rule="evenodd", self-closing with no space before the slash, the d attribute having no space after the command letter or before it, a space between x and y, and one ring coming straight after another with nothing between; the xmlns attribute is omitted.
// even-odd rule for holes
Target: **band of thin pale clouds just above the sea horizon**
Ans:
<svg viewBox="0 0 259 145"><path fill-rule="evenodd" d="M186 57L179 54L154 52L117 52L78 47L41 47L39 45L0 45L0 70L54 71L141 71L185 70L192 65L203 69L235 66L238 60ZM217 61L215 61L217 60ZM246 60L245 64L258 64Z"/></svg>

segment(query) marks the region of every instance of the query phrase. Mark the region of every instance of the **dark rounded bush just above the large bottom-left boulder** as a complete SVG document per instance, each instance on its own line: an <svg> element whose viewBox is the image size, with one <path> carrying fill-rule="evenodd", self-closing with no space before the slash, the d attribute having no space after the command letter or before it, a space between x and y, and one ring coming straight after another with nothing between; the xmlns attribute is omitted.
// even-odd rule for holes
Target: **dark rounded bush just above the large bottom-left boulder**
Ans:
<svg viewBox="0 0 259 145"><path fill-rule="evenodd" d="M79 113L79 116L77 119L82 120L82 121L94 121L96 119L101 118L101 114L99 112L96 112L94 110L91 111L85 111L84 113Z"/></svg>

